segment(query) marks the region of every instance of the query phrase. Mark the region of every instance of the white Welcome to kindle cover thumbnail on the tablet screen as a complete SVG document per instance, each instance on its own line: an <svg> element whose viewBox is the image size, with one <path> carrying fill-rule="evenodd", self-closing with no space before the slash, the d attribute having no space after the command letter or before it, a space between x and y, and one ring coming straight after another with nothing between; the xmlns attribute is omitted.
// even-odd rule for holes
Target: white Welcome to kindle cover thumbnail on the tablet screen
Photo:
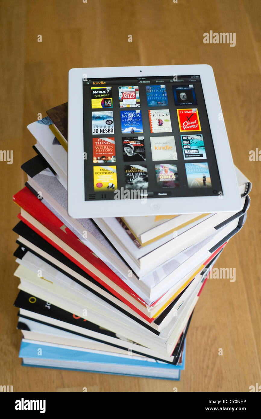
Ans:
<svg viewBox="0 0 261 419"><path fill-rule="evenodd" d="M150 137L152 160L177 160L175 138Z"/></svg>

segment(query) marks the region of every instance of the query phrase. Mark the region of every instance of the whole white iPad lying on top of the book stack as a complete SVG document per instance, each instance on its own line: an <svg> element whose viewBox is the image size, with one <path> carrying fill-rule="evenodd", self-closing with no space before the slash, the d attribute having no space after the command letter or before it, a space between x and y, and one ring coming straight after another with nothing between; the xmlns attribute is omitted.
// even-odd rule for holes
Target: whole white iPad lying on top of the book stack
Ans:
<svg viewBox="0 0 261 419"><path fill-rule="evenodd" d="M69 71L71 217L229 212L240 207L212 67Z"/></svg>

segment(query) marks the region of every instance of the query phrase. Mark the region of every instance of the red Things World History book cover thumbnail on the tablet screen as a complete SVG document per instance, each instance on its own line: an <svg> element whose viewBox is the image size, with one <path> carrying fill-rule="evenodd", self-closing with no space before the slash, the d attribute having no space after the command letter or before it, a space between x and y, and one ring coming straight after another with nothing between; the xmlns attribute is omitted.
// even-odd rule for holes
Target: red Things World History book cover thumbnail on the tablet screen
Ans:
<svg viewBox="0 0 261 419"><path fill-rule="evenodd" d="M93 163L112 163L116 161L115 140L113 137L93 138Z"/></svg>

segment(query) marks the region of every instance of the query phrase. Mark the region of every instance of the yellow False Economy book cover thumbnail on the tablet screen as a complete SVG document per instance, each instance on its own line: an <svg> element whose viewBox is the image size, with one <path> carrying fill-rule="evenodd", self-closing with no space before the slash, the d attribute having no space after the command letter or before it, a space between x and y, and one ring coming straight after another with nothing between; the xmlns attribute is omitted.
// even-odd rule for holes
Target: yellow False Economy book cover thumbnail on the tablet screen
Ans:
<svg viewBox="0 0 261 419"><path fill-rule="evenodd" d="M95 192L117 189L116 166L94 166L93 184Z"/></svg>

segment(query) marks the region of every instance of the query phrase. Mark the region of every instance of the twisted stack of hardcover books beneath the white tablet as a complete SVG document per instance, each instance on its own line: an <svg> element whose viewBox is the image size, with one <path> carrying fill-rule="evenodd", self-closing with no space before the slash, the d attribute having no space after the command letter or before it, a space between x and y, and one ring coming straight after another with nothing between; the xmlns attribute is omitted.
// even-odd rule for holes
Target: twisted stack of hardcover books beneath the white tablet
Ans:
<svg viewBox="0 0 261 419"><path fill-rule="evenodd" d="M73 219L67 212L67 103L28 125L37 155L14 255L23 365L178 380L191 316L239 212ZM192 342L189 342L192 350Z"/></svg>

